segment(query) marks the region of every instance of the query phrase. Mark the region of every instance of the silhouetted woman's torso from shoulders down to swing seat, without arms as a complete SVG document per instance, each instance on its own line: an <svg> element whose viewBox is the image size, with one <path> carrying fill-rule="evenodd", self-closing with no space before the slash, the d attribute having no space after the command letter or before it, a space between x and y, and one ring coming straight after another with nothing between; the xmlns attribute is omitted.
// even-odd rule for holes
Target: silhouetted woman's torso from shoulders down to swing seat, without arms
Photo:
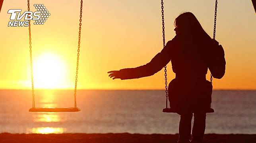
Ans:
<svg viewBox="0 0 256 143"><path fill-rule="evenodd" d="M204 112L211 106L212 85L206 80L211 41L177 35L167 43L176 73L169 84L169 101L177 113Z"/></svg>

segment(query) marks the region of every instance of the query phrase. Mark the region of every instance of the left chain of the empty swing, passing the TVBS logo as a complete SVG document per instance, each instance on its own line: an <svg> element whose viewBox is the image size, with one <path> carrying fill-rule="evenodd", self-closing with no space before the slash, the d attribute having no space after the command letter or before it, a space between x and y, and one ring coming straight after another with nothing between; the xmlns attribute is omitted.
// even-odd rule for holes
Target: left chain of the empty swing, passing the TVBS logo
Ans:
<svg viewBox="0 0 256 143"><path fill-rule="evenodd" d="M30 11L29 8L29 0L27 0L27 11ZM35 108L35 93L34 93L34 77L33 77L33 62L32 62L32 46L31 46L31 28L30 28L30 20L29 20L29 53L30 53L30 73L31 73L31 84L32 84L32 98L33 103L32 106Z"/></svg>

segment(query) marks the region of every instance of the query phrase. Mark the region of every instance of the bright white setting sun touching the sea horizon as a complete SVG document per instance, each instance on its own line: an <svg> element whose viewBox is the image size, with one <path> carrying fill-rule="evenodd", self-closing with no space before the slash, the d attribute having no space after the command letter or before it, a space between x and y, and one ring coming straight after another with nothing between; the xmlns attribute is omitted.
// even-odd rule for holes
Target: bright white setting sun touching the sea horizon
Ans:
<svg viewBox="0 0 256 143"><path fill-rule="evenodd" d="M35 88L66 88L66 63L57 55L44 53L33 62Z"/></svg>

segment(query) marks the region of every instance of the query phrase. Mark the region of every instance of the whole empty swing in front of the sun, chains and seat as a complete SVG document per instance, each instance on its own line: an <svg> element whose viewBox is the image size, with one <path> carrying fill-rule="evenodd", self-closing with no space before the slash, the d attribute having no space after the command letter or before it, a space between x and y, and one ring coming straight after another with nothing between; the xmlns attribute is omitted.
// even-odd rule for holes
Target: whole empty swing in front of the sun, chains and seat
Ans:
<svg viewBox="0 0 256 143"><path fill-rule="evenodd" d="M77 62L76 62L76 80L75 80L75 89L74 89L74 107L68 108L56 108L56 107L35 107L35 94L34 94L34 80L33 80L33 63L32 63L32 46L31 46L31 28L30 28L30 20L29 20L29 52L30 52L30 68L31 68L31 83L32 83L32 98L33 98L33 107L29 109L29 112L77 112L80 109L76 106L76 87L78 81L78 64L79 64L79 52L80 52L80 38L81 38L81 21L82 21L82 8L83 8L83 0L80 2L80 23L79 23L79 32L78 32L78 53L77 53ZM27 0L27 10L30 11L29 8L29 0Z"/></svg>

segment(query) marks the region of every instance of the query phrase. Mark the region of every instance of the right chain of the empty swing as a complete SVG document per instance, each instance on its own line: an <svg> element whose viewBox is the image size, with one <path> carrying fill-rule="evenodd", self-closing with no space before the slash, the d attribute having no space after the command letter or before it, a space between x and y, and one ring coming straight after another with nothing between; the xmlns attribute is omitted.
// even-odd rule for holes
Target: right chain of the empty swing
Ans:
<svg viewBox="0 0 256 143"><path fill-rule="evenodd" d="M77 61L76 61L76 80L75 80L75 90L74 90L74 100L75 100L75 107L76 107L76 87L78 82L78 65L79 65L79 55L80 55L80 39L81 39L81 25L82 25L82 9L83 9L83 0L81 0L80 5L80 23L79 23L79 32L78 32L78 53L77 53Z"/></svg>

